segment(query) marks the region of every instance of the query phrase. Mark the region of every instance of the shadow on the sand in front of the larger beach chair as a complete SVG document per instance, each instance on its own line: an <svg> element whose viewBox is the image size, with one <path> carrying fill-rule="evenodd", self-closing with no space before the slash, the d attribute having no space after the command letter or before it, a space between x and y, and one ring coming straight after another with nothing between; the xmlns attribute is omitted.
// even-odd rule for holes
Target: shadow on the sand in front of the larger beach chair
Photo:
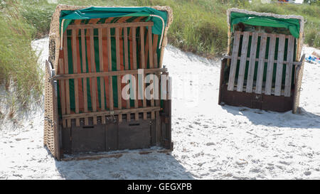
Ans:
<svg viewBox="0 0 320 194"><path fill-rule="evenodd" d="M65 179L193 179L169 153L126 153L119 158L55 161L55 166Z"/></svg>

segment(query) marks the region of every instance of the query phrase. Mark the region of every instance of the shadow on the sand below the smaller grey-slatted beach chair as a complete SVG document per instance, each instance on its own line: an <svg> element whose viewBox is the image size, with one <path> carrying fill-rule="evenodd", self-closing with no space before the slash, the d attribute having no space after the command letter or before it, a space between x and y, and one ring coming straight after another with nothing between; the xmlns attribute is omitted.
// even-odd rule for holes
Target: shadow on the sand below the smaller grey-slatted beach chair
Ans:
<svg viewBox="0 0 320 194"><path fill-rule="evenodd" d="M241 115L255 125L293 127L300 129L320 129L320 115L307 112L304 108L299 108L298 114L289 112L271 112L260 109L250 109L247 107L232 107L225 105L222 107L228 113Z"/></svg>

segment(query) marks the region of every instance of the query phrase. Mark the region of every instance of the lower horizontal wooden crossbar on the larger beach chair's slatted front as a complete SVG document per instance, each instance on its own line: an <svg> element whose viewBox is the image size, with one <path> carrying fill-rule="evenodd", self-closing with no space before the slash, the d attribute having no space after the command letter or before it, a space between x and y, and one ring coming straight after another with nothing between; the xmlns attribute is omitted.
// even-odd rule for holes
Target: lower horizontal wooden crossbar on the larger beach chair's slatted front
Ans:
<svg viewBox="0 0 320 194"><path fill-rule="evenodd" d="M79 114L65 114L63 115L63 119L75 119L75 118L85 118L85 117L99 117L99 116L110 116L110 115L119 115L119 114L127 114L134 112L154 112L159 111L160 107L143 107L137 109L117 109L113 111L100 111L100 112L87 112L87 113L79 113Z"/></svg>

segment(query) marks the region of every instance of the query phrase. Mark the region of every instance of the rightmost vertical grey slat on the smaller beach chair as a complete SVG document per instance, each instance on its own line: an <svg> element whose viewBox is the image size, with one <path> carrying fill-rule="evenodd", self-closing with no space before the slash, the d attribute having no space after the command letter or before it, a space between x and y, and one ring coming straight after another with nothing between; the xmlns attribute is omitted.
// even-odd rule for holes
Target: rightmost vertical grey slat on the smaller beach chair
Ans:
<svg viewBox="0 0 320 194"><path fill-rule="evenodd" d="M289 36L288 38L288 50L287 50L287 64L286 68L286 80L284 84L284 96L289 97L291 95L291 84L292 84L292 63L294 59L294 37Z"/></svg>

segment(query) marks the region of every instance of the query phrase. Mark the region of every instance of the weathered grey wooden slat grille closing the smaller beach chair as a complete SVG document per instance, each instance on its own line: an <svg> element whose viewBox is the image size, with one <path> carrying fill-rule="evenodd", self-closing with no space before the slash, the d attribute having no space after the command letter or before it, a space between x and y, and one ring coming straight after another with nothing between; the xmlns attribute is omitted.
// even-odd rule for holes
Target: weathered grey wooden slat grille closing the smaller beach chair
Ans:
<svg viewBox="0 0 320 194"><path fill-rule="evenodd" d="M240 46L240 37L242 36L242 44ZM250 49L248 43L251 38ZM259 40L260 37L260 41ZM267 41L269 38L269 43ZM275 60L276 42L279 38L279 44L277 48L277 60ZM285 43L288 40L287 50L285 50ZM228 81L228 90L237 90L238 92L255 92L256 94L265 95L284 95L289 97L291 95L292 86L292 65L297 65L294 62L294 37L282 34L273 33L257 33L257 32L240 32L235 31L233 41L233 51L230 56L230 72ZM260 42L260 48L257 48ZM268 48L268 50L267 50ZM257 55L257 49L259 49L259 56ZM238 52L241 50L240 57ZM247 52L250 50L250 58L247 58ZM266 59L266 52L268 53ZM287 52L287 60L284 60L284 53ZM239 67L238 60L240 60ZM249 60L247 67L247 75L245 75L246 63ZM253 82L255 77L255 66L257 62L257 80L255 84ZM274 63L277 63L277 70L274 77ZM283 66L286 67L285 77L282 77ZM236 75L238 68L238 75ZM266 69L266 70L265 70ZM238 76L238 81L235 82L235 77ZM247 77L247 80L245 80ZM285 78L284 91L282 90L282 80ZM273 82L275 80L275 82ZM245 85L246 82L246 85ZM272 87L274 85L274 90Z"/></svg>

